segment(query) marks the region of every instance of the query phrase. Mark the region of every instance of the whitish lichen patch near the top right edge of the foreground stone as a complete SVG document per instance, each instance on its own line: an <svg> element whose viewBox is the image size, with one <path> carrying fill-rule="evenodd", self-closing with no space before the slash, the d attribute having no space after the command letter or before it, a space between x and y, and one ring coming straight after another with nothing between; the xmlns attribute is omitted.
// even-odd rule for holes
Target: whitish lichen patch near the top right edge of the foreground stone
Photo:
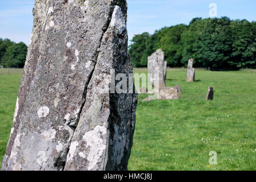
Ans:
<svg viewBox="0 0 256 182"><path fill-rule="evenodd" d="M123 16L122 10L119 6L115 6L110 26L116 27L118 34L122 34L122 32L126 30L125 17Z"/></svg>

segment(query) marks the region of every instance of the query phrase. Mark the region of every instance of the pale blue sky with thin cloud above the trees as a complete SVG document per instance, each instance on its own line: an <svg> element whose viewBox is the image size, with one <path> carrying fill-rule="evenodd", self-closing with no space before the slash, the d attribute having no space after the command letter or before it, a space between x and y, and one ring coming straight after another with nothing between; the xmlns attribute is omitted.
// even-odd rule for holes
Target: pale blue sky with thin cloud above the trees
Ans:
<svg viewBox="0 0 256 182"><path fill-rule="evenodd" d="M256 20L255 0L127 0L129 40L135 34L176 24L189 24L195 17ZM214 6L210 6L214 3ZM0 0L0 38L29 46L34 0ZM215 8L216 7L216 8ZM209 11L211 13L209 13Z"/></svg>

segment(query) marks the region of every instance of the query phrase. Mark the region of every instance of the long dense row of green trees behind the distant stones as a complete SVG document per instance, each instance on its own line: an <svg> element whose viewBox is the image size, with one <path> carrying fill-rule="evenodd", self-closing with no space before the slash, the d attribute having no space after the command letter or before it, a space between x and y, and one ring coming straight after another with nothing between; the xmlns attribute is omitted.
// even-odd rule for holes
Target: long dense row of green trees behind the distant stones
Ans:
<svg viewBox="0 0 256 182"><path fill-rule="evenodd" d="M161 48L170 67L210 69L256 68L256 22L222 18L194 18L187 26L164 27L153 35L145 32L131 40L134 67L146 67L147 56Z"/></svg>

